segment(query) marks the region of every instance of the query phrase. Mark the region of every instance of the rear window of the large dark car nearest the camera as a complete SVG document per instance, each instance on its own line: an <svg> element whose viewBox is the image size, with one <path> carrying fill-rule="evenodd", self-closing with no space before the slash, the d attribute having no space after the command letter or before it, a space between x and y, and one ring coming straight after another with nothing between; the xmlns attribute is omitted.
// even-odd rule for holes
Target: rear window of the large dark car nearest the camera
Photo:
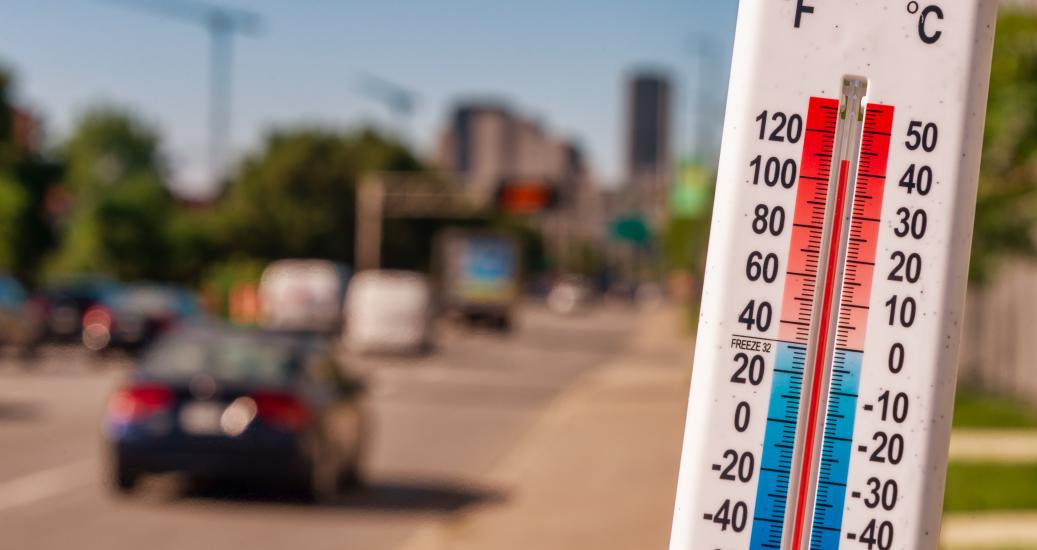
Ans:
<svg viewBox="0 0 1037 550"><path fill-rule="evenodd" d="M205 374L243 384L282 384L295 372L295 355L291 346L276 337L173 336L156 347L145 359L143 370L171 380Z"/></svg>

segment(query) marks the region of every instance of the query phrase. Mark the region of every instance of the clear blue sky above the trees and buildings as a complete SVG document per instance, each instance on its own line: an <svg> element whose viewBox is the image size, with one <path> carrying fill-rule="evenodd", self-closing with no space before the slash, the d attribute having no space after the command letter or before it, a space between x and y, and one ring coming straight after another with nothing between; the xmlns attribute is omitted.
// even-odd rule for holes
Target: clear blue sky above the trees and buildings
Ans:
<svg viewBox="0 0 1037 550"><path fill-rule="evenodd" d="M678 142L695 102L695 36L710 37L713 101L727 77L734 0L221 0L265 18L234 42L233 152L271 128L391 123L357 92L368 73L420 94L410 135L429 152L454 101L506 100L587 149L607 184L621 172L622 78L639 65L678 84ZM101 0L0 1L0 63L52 139L88 106L156 125L183 186L203 180L208 42L200 27Z"/></svg>

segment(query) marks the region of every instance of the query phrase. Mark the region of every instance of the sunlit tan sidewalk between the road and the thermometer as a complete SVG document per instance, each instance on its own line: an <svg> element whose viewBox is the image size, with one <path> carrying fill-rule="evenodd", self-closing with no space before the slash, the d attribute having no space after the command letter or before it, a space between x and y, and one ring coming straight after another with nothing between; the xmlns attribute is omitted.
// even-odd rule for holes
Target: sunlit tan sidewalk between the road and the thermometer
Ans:
<svg viewBox="0 0 1037 550"><path fill-rule="evenodd" d="M401 548L666 548L692 362L678 315L643 313L627 353L552 404L486 480L501 502L429 525Z"/></svg>

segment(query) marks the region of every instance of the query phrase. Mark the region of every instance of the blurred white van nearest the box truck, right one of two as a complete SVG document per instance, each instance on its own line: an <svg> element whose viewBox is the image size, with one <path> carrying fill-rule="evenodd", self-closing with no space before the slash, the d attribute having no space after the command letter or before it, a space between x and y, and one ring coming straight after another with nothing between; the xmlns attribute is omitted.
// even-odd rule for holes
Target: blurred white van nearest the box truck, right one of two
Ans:
<svg viewBox="0 0 1037 550"><path fill-rule="evenodd" d="M363 271L345 297L346 346L360 353L424 353L432 345L432 292L411 271Z"/></svg>

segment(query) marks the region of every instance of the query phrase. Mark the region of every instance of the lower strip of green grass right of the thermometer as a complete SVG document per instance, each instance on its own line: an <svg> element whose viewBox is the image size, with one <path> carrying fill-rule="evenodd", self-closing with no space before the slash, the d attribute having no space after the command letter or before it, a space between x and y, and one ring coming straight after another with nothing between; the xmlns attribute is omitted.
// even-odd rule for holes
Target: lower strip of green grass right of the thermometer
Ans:
<svg viewBox="0 0 1037 550"><path fill-rule="evenodd" d="M944 512L1037 510L1037 464L952 462Z"/></svg>

